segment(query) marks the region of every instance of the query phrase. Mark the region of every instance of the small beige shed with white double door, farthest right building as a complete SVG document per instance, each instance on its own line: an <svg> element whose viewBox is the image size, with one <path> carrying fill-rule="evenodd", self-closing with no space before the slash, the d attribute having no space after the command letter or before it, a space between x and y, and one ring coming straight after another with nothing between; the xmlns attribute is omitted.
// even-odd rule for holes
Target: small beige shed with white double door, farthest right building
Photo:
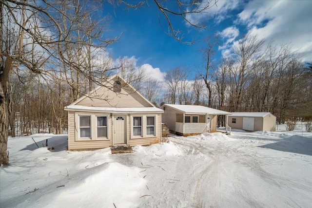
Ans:
<svg viewBox="0 0 312 208"><path fill-rule="evenodd" d="M229 115L228 126L249 132L275 132L276 117L267 112L235 112Z"/></svg>

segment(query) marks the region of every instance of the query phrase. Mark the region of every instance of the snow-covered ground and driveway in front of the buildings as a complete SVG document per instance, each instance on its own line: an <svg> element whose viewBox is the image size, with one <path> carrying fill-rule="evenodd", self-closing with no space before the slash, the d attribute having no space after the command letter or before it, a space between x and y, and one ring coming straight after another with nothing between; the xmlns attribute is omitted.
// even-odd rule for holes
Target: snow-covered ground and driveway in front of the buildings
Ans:
<svg viewBox="0 0 312 208"><path fill-rule="evenodd" d="M312 132L279 129L172 135L125 154L66 151L67 135L9 138L0 207L311 208Z"/></svg>

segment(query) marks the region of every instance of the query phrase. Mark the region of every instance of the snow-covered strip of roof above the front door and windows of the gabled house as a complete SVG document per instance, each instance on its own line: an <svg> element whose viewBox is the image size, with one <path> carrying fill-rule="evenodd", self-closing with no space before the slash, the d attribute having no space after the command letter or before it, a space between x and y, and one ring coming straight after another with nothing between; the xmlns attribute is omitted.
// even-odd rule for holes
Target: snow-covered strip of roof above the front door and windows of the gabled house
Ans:
<svg viewBox="0 0 312 208"><path fill-rule="evenodd" d="M107 112L107 113L163 113L164 111L156 107L145 108L107 108L107 107L89 107L79 105L69 105L64 108L65 111L92 111L92 112Z"/></svg>

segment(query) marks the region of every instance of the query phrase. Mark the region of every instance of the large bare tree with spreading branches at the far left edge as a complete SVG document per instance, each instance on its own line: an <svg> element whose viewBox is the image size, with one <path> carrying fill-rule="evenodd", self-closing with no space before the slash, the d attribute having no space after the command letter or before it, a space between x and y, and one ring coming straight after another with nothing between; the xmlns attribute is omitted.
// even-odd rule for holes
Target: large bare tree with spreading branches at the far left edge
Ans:
<svg viewBox="0 0 312 208"><path fill-rule="evenodd" d="M0 63L0 164L8 164L7 132L9 112L9 77L12 72L19 74L21 65L28 72L35 73L42 80L59 79L61 73L70 66L73 72L79 76L91 79L100 84L97 75L90 77L81 63L67 56L64 51L68 44L79 46L90 45L85 39L73 39L77 35L75 25L81 25L79 31L88 34L87 40L92 40L95 47L106 47L116 41L116 38L102 39L100 24L85 21L87 9L79 9L80 12L67 13L87 6L85 1L41 1L40 6L36 1L0 1L0 31L1 31L1 63ZM69 5L74 5L69 7ZM63 9L67 8L66 11ZM83 12L82 12L83 11ZM74 14L74 15L69 15ZM63 27L60 22L68 22ZM90 27L96 28L90 34ZM77 36L76 36L77 37ZM98 41L94 41L97 39ZM95 42L97 42L95 44ZM64 68L59 66L63 65ZM16 69L16 70L14 70ZM63 69L63 70L62 70ZM70 80L68 83L74 84ZM2 133L3 132L3 133Z"/></svg>

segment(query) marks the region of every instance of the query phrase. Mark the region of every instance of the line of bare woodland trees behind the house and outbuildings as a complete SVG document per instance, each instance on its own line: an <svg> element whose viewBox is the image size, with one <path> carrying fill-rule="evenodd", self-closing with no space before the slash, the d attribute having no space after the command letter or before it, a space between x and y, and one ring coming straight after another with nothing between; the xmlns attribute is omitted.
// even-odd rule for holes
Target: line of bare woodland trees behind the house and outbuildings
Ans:
<svg viewBox="0 0 312 208"><path fill-rule="evenodd" d="M163 81L156 80L126 57L119 58L121 67L112 73L118 72L157 107L168 103L228 112L271 112L279 123L298 117L312 119L312 67L303 63L289 45L266 45L263 40L246 36L228 58L218 63L209 62L213 57L208 51L203 52L208 63L196 69L193 80L188 79L191 69L184 66L169 69ZM80 77L79 82L68 83L42 80L34 74L23 76L24 82L16 74L10 78L12 136L15 132L66 133L63 108L93 89L90 80ZM73 90L77 90L73 83L79 85L80 95ZM92 82L92 86L98 84ZM218 126L224 125L224 116L219 116Z"/></svg>

